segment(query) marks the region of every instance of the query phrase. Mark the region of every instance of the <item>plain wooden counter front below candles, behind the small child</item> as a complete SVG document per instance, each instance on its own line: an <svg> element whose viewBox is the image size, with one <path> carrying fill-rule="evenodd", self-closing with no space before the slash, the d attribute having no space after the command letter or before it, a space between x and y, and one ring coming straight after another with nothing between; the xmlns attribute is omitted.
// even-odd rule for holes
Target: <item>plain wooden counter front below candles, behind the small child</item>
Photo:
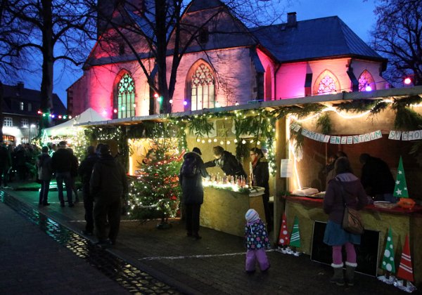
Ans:
<svg viewBox="0 0 422 295"><path fill-rule="evenodd" d="M200 225L231 235L245 234L245 214L255 209L265 222L262 195L264 188L254 187L242 192L224 188L204 187L204 202L200 208Z"/></svg>

